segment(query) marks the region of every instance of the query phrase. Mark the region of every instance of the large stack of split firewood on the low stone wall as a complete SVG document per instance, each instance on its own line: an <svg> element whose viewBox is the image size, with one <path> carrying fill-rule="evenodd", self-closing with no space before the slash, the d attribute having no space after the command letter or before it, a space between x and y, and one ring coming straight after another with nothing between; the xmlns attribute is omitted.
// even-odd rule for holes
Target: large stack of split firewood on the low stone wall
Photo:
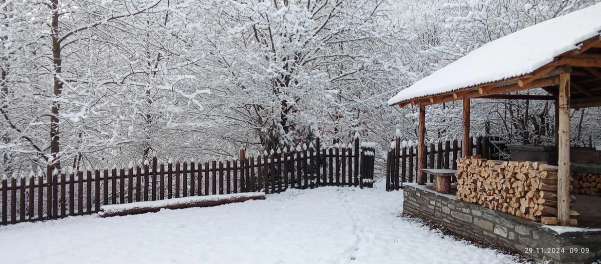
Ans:
<svg viewBox="0 0 601 264"><path fill-rule="evenodd" d="M532 221L557 222L557 169L530 161L459 158L457 198Z"/></svg>

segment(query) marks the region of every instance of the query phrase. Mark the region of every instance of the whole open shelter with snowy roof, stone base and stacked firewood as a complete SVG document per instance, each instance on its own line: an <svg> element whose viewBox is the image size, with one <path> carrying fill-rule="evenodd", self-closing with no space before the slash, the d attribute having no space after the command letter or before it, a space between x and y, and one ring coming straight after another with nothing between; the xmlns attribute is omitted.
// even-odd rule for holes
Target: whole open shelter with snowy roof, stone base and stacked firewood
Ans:
<svg viewBox="0 0 601 264"><path fill-rule="evenodd" d="M456 195L424 187L427 170L420 170L418 184L404 189L404 212L438 221L460 234L483 236L483 241L493 238L537 259L570 263L601 259L601 229L578 226L579 213L571 207L578 203L572 195L577 171L584 168L590 176L579 178L578 190L590 188L594 193L601 185L596 181L601 179L600 159L598 164L582 161L601 157L601 151L589 149L585 155L570 151L570 109L601 106L600 33L601 4L596 4L484 44L390 98L390 106L419 107L419 169L426 169L427 106L463 101L463 158L457 161ZM529 89L544 89L546 95L522 92ZM554 102L557 145L516 148L512 161L468 157L471 100L479 98ZM535 149L540 153L532 154ZM601 197L594 198L584 206L595 206L587 211L601 217ZM484 207L489 211L480 211ZM553 229L549 224L558 226Z"/></svg>

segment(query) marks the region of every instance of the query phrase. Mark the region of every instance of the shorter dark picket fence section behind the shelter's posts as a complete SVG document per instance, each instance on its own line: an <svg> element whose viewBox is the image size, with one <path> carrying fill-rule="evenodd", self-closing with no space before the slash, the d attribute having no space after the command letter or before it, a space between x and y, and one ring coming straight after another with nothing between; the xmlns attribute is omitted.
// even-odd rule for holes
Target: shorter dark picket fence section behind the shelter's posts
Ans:
<svg viewBox="0 0 601 264"><path fill-rule="evenodd" d="M504 160L506 146L496 137L470 137L469 155L480 155L483 158ZM461 144L457 140L430 143L424 157L429 169L457 169L457 158L461 157ZM417 181L417 148L401 146L400 138L395 139L394 147L386 157L386 191L398 190L400 182ZM429 182L434 178L430 175ZM454 177L451 179L455 181Z"/></svg>

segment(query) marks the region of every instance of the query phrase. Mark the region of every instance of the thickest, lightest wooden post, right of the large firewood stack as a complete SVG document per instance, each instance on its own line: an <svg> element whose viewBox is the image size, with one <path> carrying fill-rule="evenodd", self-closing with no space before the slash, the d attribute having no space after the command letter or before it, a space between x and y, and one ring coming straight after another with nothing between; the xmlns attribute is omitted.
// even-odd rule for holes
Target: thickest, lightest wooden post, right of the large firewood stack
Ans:
<svg viewBox="0 0 601 264"><path fill-rule="evenodd" d="M570 74L560 74L559 142L557 173L557 218L561 226L570 224Z"/></svg>

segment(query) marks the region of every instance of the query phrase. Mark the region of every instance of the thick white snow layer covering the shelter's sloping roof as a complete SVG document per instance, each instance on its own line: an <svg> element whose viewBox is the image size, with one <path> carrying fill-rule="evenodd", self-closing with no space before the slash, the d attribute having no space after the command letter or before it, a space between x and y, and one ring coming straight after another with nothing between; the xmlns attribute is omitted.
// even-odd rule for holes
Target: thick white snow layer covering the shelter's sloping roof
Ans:
<svg viewBox="0 0 601 264"><path fill-rule="evenodd" d="M601 3L490 41L401 90L388 104L525 76L600 31Z"/></svg>

